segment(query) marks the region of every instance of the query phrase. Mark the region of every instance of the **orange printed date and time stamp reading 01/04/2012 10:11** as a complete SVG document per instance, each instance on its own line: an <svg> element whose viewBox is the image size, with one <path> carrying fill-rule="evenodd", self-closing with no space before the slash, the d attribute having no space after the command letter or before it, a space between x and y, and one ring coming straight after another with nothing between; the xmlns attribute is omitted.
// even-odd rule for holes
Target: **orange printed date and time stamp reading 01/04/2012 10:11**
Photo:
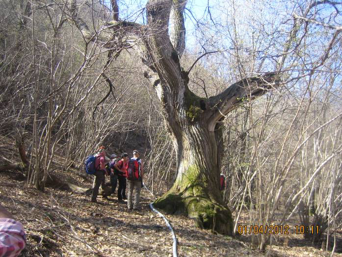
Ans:
<svg viewBox="0 0 342 257"><path fill-rule="evenodd" d="M319 226L296 225L295 234L318 234ZM238 234L290 234L289 225L237 226Z"/></svg>

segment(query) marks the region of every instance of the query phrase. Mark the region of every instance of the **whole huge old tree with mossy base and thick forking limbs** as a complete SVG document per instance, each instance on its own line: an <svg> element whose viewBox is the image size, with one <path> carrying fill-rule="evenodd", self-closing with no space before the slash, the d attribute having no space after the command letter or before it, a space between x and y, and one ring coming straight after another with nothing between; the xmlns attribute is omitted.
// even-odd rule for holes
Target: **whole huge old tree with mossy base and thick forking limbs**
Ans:
<svg viewBox="0 0 342 257"><path fill-rule="evenodd" d="M173 137L177 152L176 181L155 205L172 213L184 213L200 227L232 234L231 212L219 192L220 121L241 102L267 92L277 80L274 73L242 79L210 98L201 98L191 92L187 85L191 68L184 70L180 64L185 46L186 2L148 0L145 8L147 25L140 25L118 21L116 0L111 0L115 9L113 21L106 24L109 32L102 31L101 36L110 35L104 46L118 54L120 46L131 46L141 54L146 66L144 75L157 92L164 110L165 127ZM71 5L72 19L83 36L102 41L100 35L91 35L78 16L76 5L73 8L74 3ZM169 30L170 23L173 27Z"/></svg>

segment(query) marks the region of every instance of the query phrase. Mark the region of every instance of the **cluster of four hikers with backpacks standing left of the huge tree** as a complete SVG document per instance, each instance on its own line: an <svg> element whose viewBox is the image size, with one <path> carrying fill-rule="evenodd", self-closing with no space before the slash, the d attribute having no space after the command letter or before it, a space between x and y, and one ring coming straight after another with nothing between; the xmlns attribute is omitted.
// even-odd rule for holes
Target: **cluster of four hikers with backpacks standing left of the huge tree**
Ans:
<svg viewBox="0 0 342 257"><path fill-rule="evenodd" d="M93 193L91 201L97 203L100 186L105 189L105 176L110 176L110 194L115 193L117 183L118 202L125 203L129 210L141 210L140 191L144 177L142 160L139 158L139 152L133 151L133 157L129 158L127 153L122 153L121 158L116 154L106 156L104 146L100 146L94 156L88 156L84 162L85 171L95 176L93 183ZM126 180L128 181L128 197L126 198ZM134 201L132 195L134 193Z"/></svg>

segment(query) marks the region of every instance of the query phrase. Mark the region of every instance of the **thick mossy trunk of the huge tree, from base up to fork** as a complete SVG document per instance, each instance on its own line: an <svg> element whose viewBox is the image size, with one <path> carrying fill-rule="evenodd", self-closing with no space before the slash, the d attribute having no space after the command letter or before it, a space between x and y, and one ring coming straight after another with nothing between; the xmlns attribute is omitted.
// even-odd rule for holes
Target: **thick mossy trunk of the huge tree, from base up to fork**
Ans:
<svg viewBox="0 0 342 257"><path fill-rule="evenodd" d="M210 131L205 120L182 128L181 137L174 138L178 155L176 181L155 206L168 213L185 214L198 227L232 234L232 215L219 191L221 130L217 126Z"/></svg>

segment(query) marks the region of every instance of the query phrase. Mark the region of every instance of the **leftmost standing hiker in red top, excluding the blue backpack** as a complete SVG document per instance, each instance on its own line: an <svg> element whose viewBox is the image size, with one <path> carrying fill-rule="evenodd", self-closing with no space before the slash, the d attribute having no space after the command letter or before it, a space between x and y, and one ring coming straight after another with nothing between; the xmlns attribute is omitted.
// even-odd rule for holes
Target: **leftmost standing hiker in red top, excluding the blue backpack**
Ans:
<svg viewBox="0 0 342 257"><path fill-rule="evenodd" d="M91 196L91 201L97 203L97 195L99 194L99 188L105 188L105 174L107 171L105 169L105 163L109 161L109 158L105 156L105 146L100 146L97 154L95 155L95 180L93 184L93 194Z"/></svg>

